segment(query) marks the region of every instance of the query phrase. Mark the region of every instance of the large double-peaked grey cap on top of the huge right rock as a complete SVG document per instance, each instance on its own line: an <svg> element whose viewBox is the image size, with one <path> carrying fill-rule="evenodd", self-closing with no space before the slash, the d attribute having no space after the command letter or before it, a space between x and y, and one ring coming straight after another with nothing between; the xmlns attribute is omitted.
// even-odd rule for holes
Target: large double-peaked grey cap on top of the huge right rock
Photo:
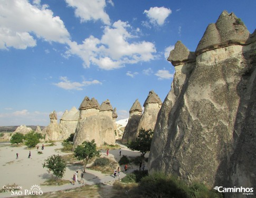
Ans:
<svg viewBox="0 0 256 198"><path fill-rule="evenodd" d="M234 13L223 11L215 24L207 26L195 53L199 55L216 48L248 44L249 36L250 33L241 19Z"/></svg>

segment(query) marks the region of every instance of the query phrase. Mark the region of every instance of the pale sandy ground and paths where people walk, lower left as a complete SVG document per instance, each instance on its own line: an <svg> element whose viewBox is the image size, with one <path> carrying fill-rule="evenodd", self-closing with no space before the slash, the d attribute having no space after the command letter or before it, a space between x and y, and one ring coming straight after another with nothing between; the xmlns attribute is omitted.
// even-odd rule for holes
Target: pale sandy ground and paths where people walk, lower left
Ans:
<svg viewBox="0 0 256 198"><path fill-rule="evenodd" d="M41 150L41 145L39 144L39 151L42 151L43 154L37 154L37 149L28 149L26 146L22 147L12 147L8 143L0 143L0 187L7 184L17 184L22 187L23 193L24 190L30 190L33 185L38 185L41 187L43 192L50 191L59 191L71 189L73 187L79 187L82 184L75 183L75 185L65 184L62 186L43 186L41 185L46 180L52 177L52 173L48 172L48 169L43 168L44 160L47 159L50 155L59 154L67 155L68 153L63 153L59 149L62 147L60 142L55 143L54 146L48 146L45 144L44 150ZM139 152L130 151L126 147L121 147L121 155L127 155L129 157L135 157L139 155ZM31 151L31 158L28 158L29 151ZM19 153L18 159L16 159L16 153ZM104 157L107 157L106 151L101 153ZM116 161L119 161L121 156L119 156L119 150L110 150L108 158L113 158ZM121 167L121 171L122 171ZM138 167L129 167L128 173L133 170L138 169ZM79 178L82 173L82 166L69 165L65 171L63 177L64 180L72 181L72 177L75 171L79 171ZM120 178L125 176L124 173L120 174ZM106 183L113 181L119 178L113 178L113 175L102 174L98 171L87 170L84 173L84 183L93 185L97 183ZM17 196L17 195L14 195ZM0 193L0 197L11 197L11 192Z"/></svg>

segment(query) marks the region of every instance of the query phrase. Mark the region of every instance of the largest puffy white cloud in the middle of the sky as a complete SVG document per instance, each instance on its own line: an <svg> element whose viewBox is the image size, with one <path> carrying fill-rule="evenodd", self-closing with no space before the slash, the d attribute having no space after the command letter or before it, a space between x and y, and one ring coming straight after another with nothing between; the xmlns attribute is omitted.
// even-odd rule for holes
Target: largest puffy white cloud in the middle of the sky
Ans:
<svg viewBox="0 0 256 198"><path fill-rule="evenodd" d="M138 31L138 29L135 30L136 33ZM70 42L70 49L65 55L66 57L79 56L84 61L84 67L97 65L105 70L153 60L156 53L155 45L147 41L131 43L130 40L136 37L131 32L132 28L127 22L118 20L112 26L105 27L101 39L90 36L84 39L82 44Z"/></svg>

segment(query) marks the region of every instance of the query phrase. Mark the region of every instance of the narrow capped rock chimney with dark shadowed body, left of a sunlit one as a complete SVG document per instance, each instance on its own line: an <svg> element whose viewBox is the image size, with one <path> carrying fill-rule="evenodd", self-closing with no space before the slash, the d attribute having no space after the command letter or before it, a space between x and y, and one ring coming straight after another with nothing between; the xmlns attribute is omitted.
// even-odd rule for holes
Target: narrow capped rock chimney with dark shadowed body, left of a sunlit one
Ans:
<svg viewBox="0 0 256 198"><path fill-rule="evenodd" d="M142 113L142 108L138 99L136 99L134 104L131 106L129 113L129 120L122 136L122 143L131 142L136 139L139 120Z"/></svg>

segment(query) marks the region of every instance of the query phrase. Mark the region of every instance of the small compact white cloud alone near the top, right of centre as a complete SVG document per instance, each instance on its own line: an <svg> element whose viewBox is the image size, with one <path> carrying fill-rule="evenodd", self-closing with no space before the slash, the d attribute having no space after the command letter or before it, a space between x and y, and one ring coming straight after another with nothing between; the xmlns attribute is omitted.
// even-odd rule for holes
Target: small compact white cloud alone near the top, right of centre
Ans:
<svg viewBox="0 0 256 198"><path fill-rule="evenodd" d="M165 19L172 13L169 8L165 7L150 7L147 11L144 11L144 14L149 18L150 23L156 25L163 25L165 23Z"/></svg>

